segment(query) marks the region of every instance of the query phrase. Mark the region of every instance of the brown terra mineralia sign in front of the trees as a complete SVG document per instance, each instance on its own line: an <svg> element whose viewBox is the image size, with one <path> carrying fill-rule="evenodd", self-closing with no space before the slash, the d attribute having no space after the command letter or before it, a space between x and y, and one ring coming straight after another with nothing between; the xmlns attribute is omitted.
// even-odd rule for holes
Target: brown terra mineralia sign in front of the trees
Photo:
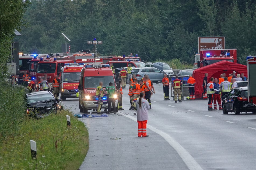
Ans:
<svg viewBox="0 0 256 170"><path fill-rule="evenodd" d="M198 37L198 53L211 49L225 49L225 37Z"/></svg>

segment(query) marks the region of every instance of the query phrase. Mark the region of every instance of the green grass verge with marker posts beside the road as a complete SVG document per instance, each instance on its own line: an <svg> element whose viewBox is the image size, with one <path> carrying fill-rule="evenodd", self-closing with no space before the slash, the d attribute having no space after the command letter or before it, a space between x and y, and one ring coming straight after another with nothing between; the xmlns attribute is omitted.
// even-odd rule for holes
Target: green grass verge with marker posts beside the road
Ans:
<svg viewBox="0 0 256 170"><path fill-rule="evenodd" d="M18 127L17 135L0 142L0 169L78 169L89 148L85 124L68 110L39 120L27 118ZM37 144L36 159L31 158L30 139Z"/></svg>

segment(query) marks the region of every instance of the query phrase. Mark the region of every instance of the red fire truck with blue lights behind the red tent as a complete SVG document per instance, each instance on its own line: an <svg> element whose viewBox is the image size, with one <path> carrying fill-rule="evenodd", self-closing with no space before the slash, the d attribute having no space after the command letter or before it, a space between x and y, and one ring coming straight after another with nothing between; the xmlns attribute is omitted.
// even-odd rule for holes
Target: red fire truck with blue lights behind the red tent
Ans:
<svg viewBox="0 0 256 170"><path fill-rule="evenodd" d="M200 60L198 60L199 55ZM239 63L236 49L201 50L199 54L195 55L194 68L204 67L223 60Z"/></svg>

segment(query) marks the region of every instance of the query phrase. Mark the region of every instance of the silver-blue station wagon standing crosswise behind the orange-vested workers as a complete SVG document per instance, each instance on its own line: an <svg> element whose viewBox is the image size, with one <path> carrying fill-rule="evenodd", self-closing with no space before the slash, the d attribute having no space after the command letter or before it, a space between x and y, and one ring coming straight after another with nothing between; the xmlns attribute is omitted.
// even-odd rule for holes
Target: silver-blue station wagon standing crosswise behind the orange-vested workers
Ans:
<svg viewBox="0 0 256 170"><path fill-rule="evenodd" d="M150 80L153 82L162 81L165 74L163 71L155 67L134 68L132 70L134 74L136 73L136 77L138 80L140 80L146 74L149 75Z"/></svg>

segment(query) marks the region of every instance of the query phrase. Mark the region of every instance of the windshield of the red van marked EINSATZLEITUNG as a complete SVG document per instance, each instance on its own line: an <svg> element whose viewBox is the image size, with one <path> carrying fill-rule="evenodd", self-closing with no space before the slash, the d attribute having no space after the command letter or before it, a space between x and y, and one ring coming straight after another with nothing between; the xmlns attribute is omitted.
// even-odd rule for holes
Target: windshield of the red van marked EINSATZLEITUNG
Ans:
<svg viewBox="0 0 256 170"><path fill-rule="evenodd" d="M97 86L99 86L99 82L103 82L103 87L107 87L110 82L114 83L114 77L113 76L85 77L84 88L96 88Z"/></svg>

